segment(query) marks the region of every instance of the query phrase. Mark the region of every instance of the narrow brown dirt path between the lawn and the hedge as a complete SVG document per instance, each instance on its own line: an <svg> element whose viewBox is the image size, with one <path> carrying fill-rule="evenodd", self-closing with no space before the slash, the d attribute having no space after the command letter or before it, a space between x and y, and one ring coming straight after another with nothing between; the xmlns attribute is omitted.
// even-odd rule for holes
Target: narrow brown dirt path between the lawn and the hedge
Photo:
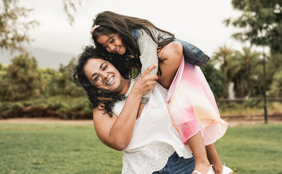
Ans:
<svg viewBox="0 0 282 174"><path fill-rule="evenodd" d="M229 126L236 126L238 124L260 124L264 123L264 119L254 119L254 120L234 120L223 118L227 121ZM34 123L34 124L46 124L46 123L60 123L60 124L93 124L93 120L62 120L57 118L9 118L0 119L0 123ZM268 123L282 123L282 119L270 118Z"/></svg>

